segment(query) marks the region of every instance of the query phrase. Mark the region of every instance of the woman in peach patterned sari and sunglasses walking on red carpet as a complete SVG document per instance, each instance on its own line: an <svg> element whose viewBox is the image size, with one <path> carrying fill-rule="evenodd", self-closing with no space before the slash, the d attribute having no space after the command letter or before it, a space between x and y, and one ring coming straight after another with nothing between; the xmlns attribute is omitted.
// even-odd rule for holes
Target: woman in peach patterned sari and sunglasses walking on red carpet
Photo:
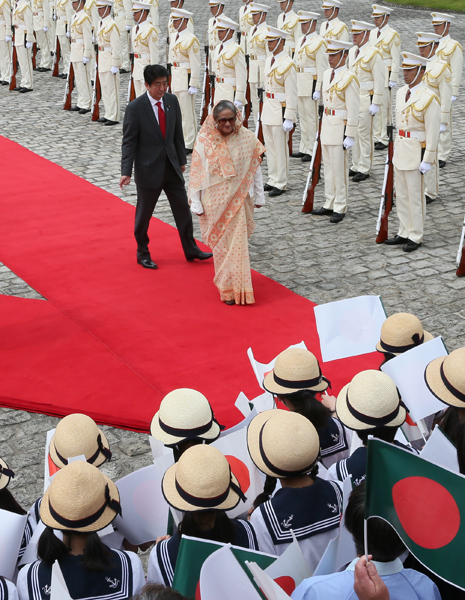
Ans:
<svg viewBox="0 0 465 600"><path fill-rule="evenodd" d="M248 239L254 206L265 204L260 169L264 146L242 126L232 102L220 100L195 142L189 202L213 251L213 283L226 304L255 302Z"/></svg>

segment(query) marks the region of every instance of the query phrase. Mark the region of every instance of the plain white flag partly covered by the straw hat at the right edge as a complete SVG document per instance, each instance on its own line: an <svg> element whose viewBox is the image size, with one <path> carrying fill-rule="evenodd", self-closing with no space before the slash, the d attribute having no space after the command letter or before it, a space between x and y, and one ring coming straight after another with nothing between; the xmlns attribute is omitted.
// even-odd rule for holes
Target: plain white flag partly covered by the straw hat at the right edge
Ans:
<svg viewBox="0 0 465 600"><path fill-rule="evenodd" d="M433 396L425 383L428 363L440 356L447 356L447 349L442 338L437 337L392 358L381 367L381 371L389 375L399 388L415 423L445 408L445 404Z"/></svg>

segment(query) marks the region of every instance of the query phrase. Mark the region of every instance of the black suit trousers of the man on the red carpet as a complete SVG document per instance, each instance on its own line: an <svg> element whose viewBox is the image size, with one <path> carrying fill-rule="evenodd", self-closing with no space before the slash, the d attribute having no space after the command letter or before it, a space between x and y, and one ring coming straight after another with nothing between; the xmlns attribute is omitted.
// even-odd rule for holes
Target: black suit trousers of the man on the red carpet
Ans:
<svg viewBox="0 0 465 600"><path fill-rule="evenodd" d="M137 186L136 220L134 236L137 242L137 258L150 258L148 229L155 206L164 191L178 229L182 249L186 258L195 256L199 249L194 240L192 215L187 201L184 180L176 173L173 165L165 159L165 173L159 187L147 189Z"/></svg>

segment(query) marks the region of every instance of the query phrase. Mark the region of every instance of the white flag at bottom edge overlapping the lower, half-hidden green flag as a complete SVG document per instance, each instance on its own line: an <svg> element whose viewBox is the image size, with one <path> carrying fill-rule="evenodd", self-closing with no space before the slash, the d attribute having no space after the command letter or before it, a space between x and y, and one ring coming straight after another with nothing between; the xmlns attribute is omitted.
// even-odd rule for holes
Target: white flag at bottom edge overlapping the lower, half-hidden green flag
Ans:
<svg viewBox="0 0 465 600"><path fill-rule="evenodd" d="M202 600L261 600L228 544L214 552L200 571Z"/></svg>

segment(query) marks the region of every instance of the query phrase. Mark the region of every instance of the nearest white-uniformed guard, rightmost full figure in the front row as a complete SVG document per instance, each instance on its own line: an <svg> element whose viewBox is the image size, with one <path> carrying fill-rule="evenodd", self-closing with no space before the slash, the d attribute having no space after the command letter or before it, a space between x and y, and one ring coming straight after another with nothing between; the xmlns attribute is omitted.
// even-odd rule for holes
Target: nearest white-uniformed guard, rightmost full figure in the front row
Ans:
<svg viewBox="0 0 465 600"><path fill-rule="evenodd" d="M422 81L426 58L402 52L401 68L406 85L397 91L394 141L394 177L399 230L384 243L402 245L405 252L421 246L425 224L423 176L435 160L441 125L439 98Z"/></svg>

